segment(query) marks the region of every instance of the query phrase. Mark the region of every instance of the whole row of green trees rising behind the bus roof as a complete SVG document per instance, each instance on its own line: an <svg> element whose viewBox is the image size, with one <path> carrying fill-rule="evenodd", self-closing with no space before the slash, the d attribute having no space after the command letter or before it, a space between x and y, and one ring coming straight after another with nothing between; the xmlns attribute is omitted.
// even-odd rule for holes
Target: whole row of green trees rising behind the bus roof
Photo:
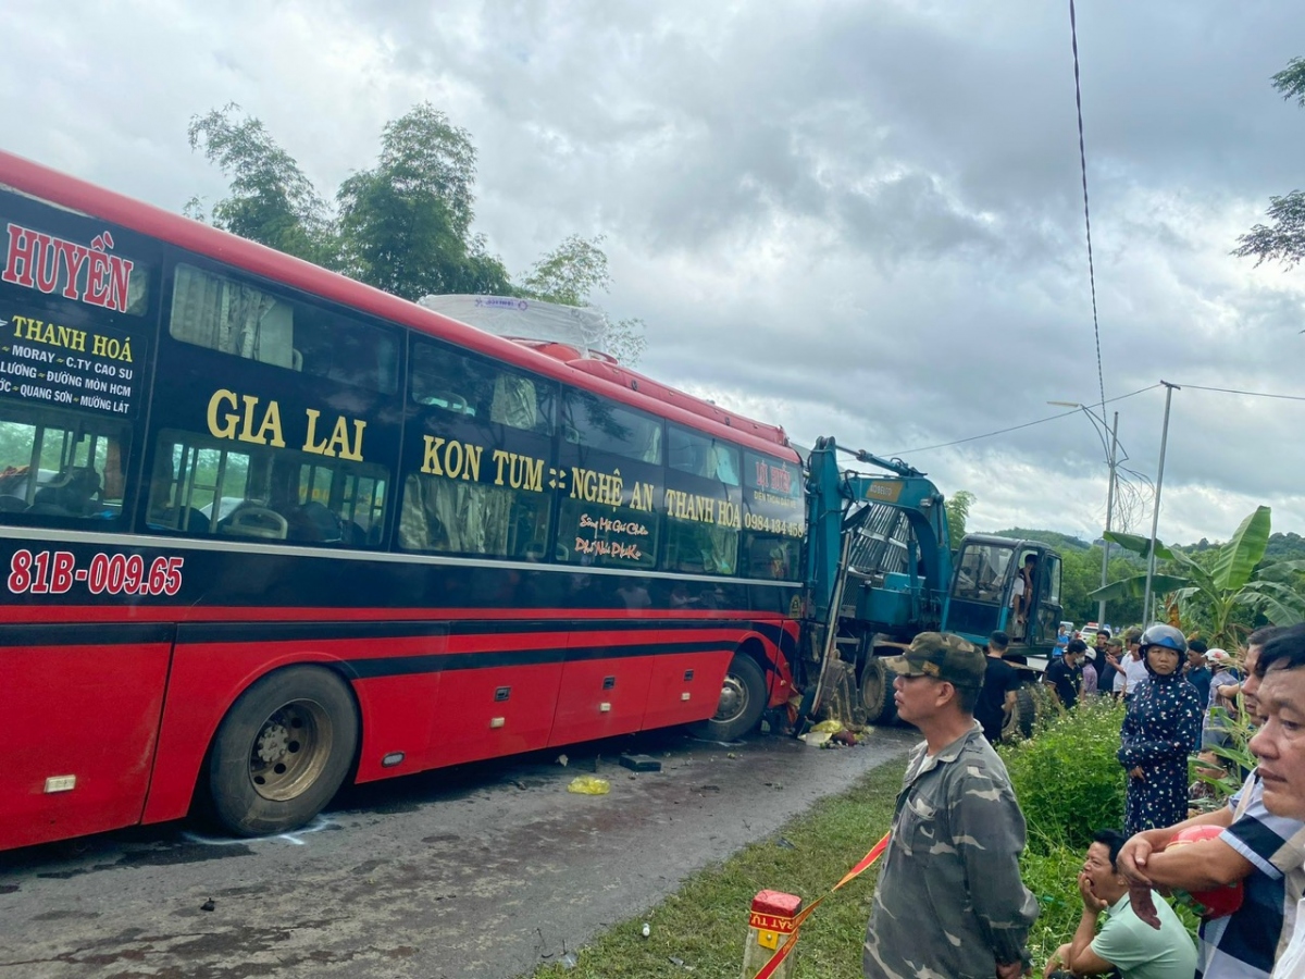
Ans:
<svg viewBox="0 0 1305 979"><path fill-rule="evenodd" d="M213 222L243 238L343 272L405 299L470 292L532 296L590 305L602 315L600 337L587 338L622 363L646 346L639 319L612 320L592 296L611 288L602 235L572 235L544 255L514 286L489 252L475 219L476 148L471 133L431 103L386 124L376 166L347 178L335 193L338 215L299 164L241 116L235 103L193 116L191 148L202 150L231 179L231 193L213 208ZM188 217L205 219L192 197Z"/></svg>

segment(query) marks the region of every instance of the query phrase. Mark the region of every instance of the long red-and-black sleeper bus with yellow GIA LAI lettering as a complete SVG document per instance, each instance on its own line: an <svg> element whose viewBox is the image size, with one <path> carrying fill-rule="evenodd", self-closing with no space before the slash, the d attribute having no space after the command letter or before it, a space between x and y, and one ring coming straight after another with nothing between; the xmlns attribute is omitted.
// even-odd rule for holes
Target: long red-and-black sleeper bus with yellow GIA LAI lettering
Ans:
<svg viewBox="0 0 1305 979"><path fill-rule="evenodd" d="M782 429L5 153L0 249L0 847L787 701Z"/></svg>

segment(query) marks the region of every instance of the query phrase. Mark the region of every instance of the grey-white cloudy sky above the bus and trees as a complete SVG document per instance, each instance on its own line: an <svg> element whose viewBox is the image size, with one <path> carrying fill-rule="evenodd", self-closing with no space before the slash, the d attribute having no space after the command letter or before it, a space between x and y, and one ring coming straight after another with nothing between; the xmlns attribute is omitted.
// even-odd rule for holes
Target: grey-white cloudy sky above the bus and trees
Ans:
<svg viewBox="0 0 1305 979"><path fill-rule="evenodd" d="M224 183L194 114L264 120L325 197L429 101L514 273L607 236L641 369L900 454L972 529L1094 536L1104 452L1067 0L68 0L0 7L0 145L164 208ZM1160 536L1305 533L1305 269L1229 256L1305 185L1296 4L1078 9L1105 397L1173 396ZM1112 402L1154 476L1163 390ZM1147 533L1148 512L1137 529Z"/></svg>

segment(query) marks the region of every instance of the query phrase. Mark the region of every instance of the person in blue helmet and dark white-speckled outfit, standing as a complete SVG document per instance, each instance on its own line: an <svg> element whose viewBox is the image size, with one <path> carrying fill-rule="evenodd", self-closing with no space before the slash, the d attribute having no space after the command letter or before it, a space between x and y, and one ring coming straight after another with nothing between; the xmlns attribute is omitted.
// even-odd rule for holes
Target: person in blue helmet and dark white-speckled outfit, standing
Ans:
<svg viewBox="0 0 1305 979"><path fill-rule="evenodd" d="M1188 641L1172 625L1142 633L1147 683L1129 698L1116 757L1129 774L1125 828L1131 837L1188 816L1188 756L1201 739L1203 704L1180 668Z"/></svg>

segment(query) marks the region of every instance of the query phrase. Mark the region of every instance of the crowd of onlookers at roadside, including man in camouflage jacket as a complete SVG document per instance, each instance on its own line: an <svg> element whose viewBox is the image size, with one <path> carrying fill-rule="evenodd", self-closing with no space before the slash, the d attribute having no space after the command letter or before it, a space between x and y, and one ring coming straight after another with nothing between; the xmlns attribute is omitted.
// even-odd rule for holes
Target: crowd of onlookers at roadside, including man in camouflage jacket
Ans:
<svg viewBox="0 0 1305 979"><path fill-rule="evenodd" d="M1259 629L1233 653L1164 624L1095 638L1091 649L1067 641L1043 681L1065 709L1105 696L1126 704L1116 756L1125 825L1095 834L1078 928L1041 974L1305 979L1305 625ZM925 633L889 662L898 714L924 741L867 925L868 979L1009 979L1034 967L1024 820L993 751L1021 685L1007 645L994 633L985 657ZM1248 735L1249 769L1237 751ZM1189 785L1193 758L1207 775L1240 774L1240 790L1189 815L1205 785ZM1178 893L1201 912L1195 945L1169 903Z"/></svg>

